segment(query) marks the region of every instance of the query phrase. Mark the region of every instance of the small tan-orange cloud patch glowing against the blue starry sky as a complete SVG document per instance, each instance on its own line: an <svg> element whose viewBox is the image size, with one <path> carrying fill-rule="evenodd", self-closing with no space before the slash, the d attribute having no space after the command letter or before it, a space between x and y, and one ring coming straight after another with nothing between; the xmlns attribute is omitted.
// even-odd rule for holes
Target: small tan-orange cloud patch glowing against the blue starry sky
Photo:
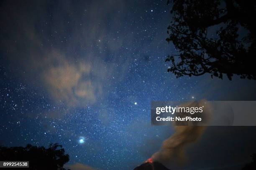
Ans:
<svg viewBox="0 0 256 170"><path fill-rule="evenodd" d="M102 80L93 81L95 72L90 63L79 64L68 61L54 53L45 63L41 79L55 102L64 101L67 106L84 106L95 103L99 95L102 96Z"/></svg>

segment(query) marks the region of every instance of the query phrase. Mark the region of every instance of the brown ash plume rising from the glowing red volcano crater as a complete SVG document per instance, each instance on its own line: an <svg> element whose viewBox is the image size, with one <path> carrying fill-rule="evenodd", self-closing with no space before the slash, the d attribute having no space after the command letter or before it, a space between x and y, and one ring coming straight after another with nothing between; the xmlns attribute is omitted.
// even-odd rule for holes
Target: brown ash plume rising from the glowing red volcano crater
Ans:
<svg viewBox="0 0 256 170"><path fill-rule="evenodd" d="M198 107L204 105L202 112L205 120L210 118L210 105L205 101L183 103L180 107ZM187 116L184 113L174 113L179 116ZM194 116L194 115L192 115ZM197 126L192 122L186 122L186 125L180 125L180 122L174 122L175 133L164 140L161 149L151 156L153 161L158 161L165 165L172 163L182 164L186 161L186 149L189 144L200 140L200 137L206 130L207 126Z"/></svg>

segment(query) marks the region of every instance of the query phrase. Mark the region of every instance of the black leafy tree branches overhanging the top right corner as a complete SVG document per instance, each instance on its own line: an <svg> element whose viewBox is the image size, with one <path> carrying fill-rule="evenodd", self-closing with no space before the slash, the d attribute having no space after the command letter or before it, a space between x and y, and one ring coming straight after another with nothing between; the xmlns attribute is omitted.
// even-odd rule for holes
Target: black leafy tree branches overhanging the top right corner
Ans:
<svg viewBox="0 0 256 170"><path fill-rule="evenodd" d="M176 77L210 73L256 80L255 0L173 0L166 58ZM168 2L169 3L169 0Z"/></svg>

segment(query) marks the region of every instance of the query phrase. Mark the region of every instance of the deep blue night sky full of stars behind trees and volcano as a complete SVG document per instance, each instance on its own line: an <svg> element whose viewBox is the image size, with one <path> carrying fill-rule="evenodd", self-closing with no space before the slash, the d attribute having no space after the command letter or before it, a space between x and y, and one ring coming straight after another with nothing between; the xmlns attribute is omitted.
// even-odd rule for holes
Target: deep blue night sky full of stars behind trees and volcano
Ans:
<svg viewBox="0 0 256 170"><path fill-rule="evenodd" d="M69 168L129 170L174 133L151 126L152 101L256 100L253 80L167 72L170 8L164 0L0 2L0 145L59 143ZM255 130L209 128L183 168L248 162Z"/></svg>

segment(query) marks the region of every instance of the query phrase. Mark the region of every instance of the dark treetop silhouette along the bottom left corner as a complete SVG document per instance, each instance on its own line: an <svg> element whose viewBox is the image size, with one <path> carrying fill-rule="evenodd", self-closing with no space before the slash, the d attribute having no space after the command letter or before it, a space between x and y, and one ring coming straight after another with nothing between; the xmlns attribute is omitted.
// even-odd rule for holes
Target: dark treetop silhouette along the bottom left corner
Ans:
<svg viewBox="0 0 256 170"><path fill-rule="evenodd" d="M47 149L28 144L25 148L0 147L0 160L29 161L30 170L65 170L63 165L69 161L69 155L57 143L49 145Z"/></svg>

